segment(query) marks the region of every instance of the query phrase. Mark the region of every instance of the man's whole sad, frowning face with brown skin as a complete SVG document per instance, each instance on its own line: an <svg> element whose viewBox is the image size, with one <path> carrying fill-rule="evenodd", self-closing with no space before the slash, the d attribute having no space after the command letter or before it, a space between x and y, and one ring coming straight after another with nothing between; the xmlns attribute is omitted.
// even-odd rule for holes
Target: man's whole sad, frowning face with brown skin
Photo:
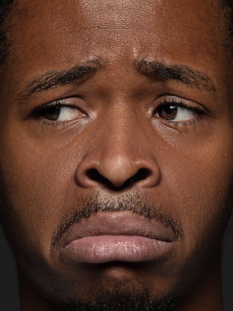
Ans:
<svg viewBox="0 0 233 311"><path fill-rule="evenodd" d="M60 305L182 297L213 273L232 200L221 6L32 2L10 15L0 88L21 283Z"/></svg>

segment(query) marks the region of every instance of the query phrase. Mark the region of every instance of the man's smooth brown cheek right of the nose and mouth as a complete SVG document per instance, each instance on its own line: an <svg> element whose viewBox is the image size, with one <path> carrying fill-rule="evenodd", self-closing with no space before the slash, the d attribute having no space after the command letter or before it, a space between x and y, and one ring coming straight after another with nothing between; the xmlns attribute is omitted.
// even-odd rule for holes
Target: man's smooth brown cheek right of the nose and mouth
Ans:
<svg viewBox="0 0 233 311"><path fill-rule="evenodd" d="M223 139L176 150L165 174L166 204L181 220L187 253L219 247L233 200L233 150Z"/></svg>

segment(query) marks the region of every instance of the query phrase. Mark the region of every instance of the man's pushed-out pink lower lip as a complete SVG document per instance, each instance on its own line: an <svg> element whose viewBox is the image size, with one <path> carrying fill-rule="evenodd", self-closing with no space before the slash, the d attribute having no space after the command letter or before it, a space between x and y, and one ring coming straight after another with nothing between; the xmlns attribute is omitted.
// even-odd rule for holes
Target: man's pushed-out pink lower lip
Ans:
<svg viewBox="0 0 233 311"><path fill-rule="evenodd" d="M68 260L83 263L142 262L165 256L172 244L137 235L87 236L68 243L63 255Z"/></svg>

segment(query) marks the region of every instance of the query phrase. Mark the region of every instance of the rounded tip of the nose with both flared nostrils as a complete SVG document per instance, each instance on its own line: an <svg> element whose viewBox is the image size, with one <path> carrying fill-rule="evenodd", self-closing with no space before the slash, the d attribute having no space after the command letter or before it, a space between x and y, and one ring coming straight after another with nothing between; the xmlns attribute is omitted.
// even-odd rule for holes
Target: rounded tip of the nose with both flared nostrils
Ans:
<svg viewBox="0 0 233 311"><path fill-rule="evenodd" d="M152 158L132 159L128 155L114 158L86 157L78 165L76 182L82 187L105 186L111 188L142 185L153 187L160 180L159 167Z"/></svg>

